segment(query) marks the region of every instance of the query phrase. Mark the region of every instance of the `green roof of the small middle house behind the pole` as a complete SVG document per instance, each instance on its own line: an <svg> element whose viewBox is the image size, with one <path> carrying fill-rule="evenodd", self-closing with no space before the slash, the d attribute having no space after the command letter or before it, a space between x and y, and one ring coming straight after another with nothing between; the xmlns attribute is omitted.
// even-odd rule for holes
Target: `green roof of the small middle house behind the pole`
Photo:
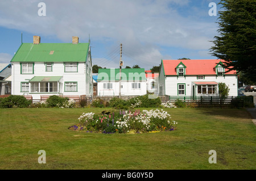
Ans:
<svg viewBox="0 0 256 181"><path fill-rule="evenodd" d="M146 81L144 69L122 69L122 80ZM97 81L119 81L119 69L98 69Z"/></svg>

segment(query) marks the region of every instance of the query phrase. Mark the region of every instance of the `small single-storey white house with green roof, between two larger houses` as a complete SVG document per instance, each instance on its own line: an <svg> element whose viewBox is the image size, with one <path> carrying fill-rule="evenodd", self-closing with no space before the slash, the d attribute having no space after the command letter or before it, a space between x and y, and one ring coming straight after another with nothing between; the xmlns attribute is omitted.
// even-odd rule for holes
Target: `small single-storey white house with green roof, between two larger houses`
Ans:
<svg viewBox="0 0 256 181"><path fill-rule="evenodd" d="M119 95L119 69L98 69L98 96ZM121 96L147 94L144 69L121 69Z"/></svg>

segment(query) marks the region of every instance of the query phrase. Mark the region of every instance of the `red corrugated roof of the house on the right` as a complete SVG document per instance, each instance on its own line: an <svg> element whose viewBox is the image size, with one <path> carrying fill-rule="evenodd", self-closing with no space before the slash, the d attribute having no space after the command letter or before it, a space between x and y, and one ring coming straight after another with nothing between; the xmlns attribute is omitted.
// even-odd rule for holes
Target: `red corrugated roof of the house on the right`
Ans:
<svg viewBox="0 0 256 181"><path fill-rule="evenodd" d="M177 75L176 67L182 62L187 68L186 75L215 75L214 67L224 60L163 60L164 74ZM236 74L235 70L225 74Z"/></svg>

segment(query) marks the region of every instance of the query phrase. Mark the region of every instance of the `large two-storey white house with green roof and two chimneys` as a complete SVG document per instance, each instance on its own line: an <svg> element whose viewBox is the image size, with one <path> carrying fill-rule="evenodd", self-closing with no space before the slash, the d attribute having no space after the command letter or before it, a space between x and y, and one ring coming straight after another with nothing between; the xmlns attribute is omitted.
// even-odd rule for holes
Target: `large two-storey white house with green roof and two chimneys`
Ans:
<svg viewBox="0 0 256 181"><path fill-rule="evenodd" d="M92 58L90 44L22 43L11 60L11 94L32 95L92 95Z"/></svg>

